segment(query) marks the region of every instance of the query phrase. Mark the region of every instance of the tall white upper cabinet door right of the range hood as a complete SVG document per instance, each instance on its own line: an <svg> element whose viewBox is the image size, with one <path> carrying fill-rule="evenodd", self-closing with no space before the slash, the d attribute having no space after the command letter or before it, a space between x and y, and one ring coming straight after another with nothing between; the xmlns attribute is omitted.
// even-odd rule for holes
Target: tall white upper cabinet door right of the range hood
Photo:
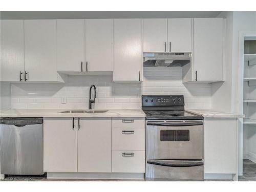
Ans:
<svg viewBox="0 0 256 192"><path fill-rule="evenodd" d="M193 66L193 80L223 80L223 18L194 18Z"/></svg>

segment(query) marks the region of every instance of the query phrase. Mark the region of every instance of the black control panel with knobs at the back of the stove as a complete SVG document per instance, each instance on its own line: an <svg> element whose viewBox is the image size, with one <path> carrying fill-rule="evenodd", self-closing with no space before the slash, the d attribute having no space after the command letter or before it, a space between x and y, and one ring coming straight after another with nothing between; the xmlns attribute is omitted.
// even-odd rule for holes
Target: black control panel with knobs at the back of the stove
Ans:
<svg viewBox="0 0 256 192"><path fill-rule="evenodd" d="M184 96L142 95L142 106L184 106Z"/></svg>

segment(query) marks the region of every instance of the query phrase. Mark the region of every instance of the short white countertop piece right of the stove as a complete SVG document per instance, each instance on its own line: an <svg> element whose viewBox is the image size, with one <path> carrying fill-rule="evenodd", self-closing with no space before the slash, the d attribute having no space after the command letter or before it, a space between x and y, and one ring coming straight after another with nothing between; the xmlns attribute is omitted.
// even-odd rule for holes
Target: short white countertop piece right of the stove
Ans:
<svg viewBox="0 0 256 192"><path fill-rule="evenodd" d="M202 115L205 118L243 118L244 115L234 114L234 113L225 113L225 112L218 112L212 110L205 110L205 109L186 109L187 112L191 112L197 115Z"/></svg>

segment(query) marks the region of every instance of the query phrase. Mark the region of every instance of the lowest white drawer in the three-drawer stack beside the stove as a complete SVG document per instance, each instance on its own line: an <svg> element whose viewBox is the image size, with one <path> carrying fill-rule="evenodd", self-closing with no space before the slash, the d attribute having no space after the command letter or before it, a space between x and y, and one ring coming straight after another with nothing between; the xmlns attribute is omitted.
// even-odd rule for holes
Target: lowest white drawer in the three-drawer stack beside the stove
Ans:
<svg viewBox="0 0 256 192"><path fill-rule="evenodd" d="M145 173L145 152L112 151L112 172Z"/></svg>

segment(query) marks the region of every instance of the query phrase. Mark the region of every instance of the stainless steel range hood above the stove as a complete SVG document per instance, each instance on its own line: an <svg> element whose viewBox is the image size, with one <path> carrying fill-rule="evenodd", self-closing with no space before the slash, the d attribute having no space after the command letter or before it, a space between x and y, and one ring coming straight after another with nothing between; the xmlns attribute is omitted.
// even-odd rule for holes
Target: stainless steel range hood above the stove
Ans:
<svg viewBox="0 0 256 192"><path fill-rule="evenodd" d="M143 53L144 67L184 66L191 60L191 52Z"/></svg>

